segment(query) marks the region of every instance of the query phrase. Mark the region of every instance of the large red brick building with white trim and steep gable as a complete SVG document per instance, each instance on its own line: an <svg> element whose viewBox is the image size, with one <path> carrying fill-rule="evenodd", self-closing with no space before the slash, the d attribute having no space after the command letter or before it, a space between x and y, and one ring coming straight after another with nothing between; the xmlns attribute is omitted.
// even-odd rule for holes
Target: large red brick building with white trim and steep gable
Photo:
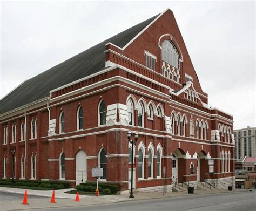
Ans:
<svg viewBox="0 0 256 211"><path fill-rule="evenodd" d="M213 81L212 81L213 82ZM235 185L232 115L207 105L170 9L26 80L0 103L1 178L171 190ZM15 149L12 161L11 151ZM12 165L14 164L14 165ZM164 169L166 171L164 171ZM166 172L164 174L164 172Z"/></svg>

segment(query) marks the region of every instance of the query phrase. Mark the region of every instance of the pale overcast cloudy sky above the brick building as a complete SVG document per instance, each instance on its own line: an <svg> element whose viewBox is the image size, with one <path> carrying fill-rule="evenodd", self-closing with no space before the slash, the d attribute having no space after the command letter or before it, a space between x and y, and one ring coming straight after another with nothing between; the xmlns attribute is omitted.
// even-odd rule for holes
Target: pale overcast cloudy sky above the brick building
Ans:
<svg viewBox="0 0 256 211"><path fill-rule="evenodd" d="M255 3L1 2L0 98L25 79L166 8L176 17L208 103L255 126Z"/></svg>

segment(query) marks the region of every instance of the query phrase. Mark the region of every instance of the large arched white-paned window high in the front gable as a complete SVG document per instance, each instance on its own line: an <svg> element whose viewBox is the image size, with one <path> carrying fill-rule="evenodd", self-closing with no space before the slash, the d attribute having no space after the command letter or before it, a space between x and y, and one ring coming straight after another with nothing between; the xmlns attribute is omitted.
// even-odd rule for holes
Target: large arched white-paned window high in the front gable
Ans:
<svg viewBox="0 0 256 211"><path fill-rule="evenodd" d="M162 43L162 60L179 69L179 53L171 40Z"/></svg>

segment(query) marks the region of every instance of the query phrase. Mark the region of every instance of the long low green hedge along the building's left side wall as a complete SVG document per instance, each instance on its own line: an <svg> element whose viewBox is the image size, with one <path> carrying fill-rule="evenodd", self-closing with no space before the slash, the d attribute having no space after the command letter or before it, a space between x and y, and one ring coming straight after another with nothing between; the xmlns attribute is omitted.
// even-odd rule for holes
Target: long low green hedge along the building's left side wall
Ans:
<svg viewBox="0 0 256 211"><path fill-rule="evenodd" d="M11 185L12 180L0 180L0 185ZM41 187L41 188L52 188L52 189L66 189L70 188L68 182L44 182L44 181L21 181L14 180L16 186L27 186L27 187Z"/></svg>

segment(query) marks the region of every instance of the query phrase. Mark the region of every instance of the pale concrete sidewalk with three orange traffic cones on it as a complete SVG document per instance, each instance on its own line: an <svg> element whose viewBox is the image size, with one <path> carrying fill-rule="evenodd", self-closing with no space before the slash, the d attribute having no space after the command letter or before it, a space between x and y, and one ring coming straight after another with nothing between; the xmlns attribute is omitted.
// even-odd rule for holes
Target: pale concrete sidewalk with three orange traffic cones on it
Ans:
<svg viewBox="0 0 256 211"><path fill-rule="evenodd" d="M12 189L12 190L10 190ZM3 188L0 187L1 192L6 193L22 193L24 194L24 189L16 189L16 188ZM64 189L64 190L56 190L56 202L57 203L49 203L52 191L42 191L42 190L28 190L28 195L37 195L37 196L46 196L47 198L40 199L30 199L28 196L29 205L22 205L21 202L23 200L23 195L21 195L20 200L6 200L0 202L0 210L21 210L21 209L35 209L35 208L54 208L54 207L74 207L74 206L86 206L86 205L100 205L104 203L117 203L124 201L134 201L134 200L146 200L146 199L160 199L160 198L169 198L169 197L177 197L177 196L193 196L193 195L202 195L202 194L226 194L231 193L227 190L195 190L194 194L185 193L135 193L134 198L129 198L129 194L122 195L105 195L105 196L87 196L80 195L80 202L75 202L75 194L66 194L64 192L72 190L72 189ZM244 189L235 189L232 193L245 192L248 190ZM255 190L253 190L256 192Z"/></svg>

